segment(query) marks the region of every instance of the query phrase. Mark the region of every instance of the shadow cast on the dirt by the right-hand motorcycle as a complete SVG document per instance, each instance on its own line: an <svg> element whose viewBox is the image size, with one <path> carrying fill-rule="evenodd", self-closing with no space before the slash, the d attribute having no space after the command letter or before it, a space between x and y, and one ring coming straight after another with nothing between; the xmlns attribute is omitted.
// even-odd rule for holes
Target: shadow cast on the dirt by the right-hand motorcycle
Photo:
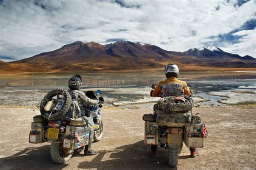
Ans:
<svg viewBox="0 0 256 170"><path fill-rule="evenodd" d="M99 151L92 161L80 162L78 168L97 169L177 169L168 165L167 149L158 148L157 157L146 155L147 146L144 140L130 145L124 145L111 151Z"/></svg>

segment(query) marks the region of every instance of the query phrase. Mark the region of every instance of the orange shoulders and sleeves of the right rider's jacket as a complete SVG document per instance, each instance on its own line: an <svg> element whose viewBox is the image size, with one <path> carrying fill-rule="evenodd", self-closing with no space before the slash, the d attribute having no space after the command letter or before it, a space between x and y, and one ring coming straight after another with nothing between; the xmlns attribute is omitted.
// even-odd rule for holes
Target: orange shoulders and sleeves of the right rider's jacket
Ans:
<svg viewBox="0 0 256 170"><path fill-rule="evenodd" d="M183 93L186 94L187 96L191 96L190 87L187 86L187 83L185 81L178 80L176 77L169 77L168 79L166 79L164 81L160 81L158 83L156 89L151 91L151 96L152 97L162 97L162 95L163 95L162 87L165 84L178 84L178 85L180 85L180 88L181 88L179 90L182 90ZM170 89L168 89L168 90L170 90Z"/></svg>

